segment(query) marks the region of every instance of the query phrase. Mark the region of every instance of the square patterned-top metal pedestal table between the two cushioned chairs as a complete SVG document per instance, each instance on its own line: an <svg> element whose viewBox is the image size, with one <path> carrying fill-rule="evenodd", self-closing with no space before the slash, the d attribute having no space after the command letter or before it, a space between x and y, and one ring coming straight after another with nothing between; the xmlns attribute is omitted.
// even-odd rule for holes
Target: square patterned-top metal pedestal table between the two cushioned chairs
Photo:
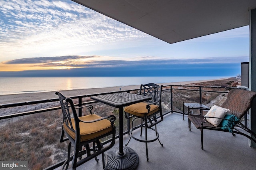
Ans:
<svg viewBox="0 0 256 170"><path fill-rule="evenodd" d="M138 167L138 154L127 146L123 146L123 107L148 101L152 97L130 93L113 93L91 97L96 101L119 108L119 147L110 149L106 153L107 170L134 170Z"/></svg>

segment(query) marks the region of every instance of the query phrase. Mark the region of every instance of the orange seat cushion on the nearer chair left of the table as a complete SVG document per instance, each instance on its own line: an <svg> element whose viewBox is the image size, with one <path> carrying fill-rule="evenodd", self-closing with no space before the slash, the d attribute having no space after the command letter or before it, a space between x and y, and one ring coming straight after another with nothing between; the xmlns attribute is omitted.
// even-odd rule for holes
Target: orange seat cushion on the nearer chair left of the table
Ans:
<svg viewBox="0 0 256 170"><path fill-rule="evenodd" d="M79 117L79 119L82 121L93 121L100 118L102 117L94 114ZM71 119L71 122L74 130L76 130L74 119ZM111 127L110 121L108 121L107 119L103 119L101 121L97 121L93 123L80 122L79 125L80 125L80 141L81 142L86 140L91 140L93 138L96 138L98 136L101 136L102 134L106 134L113 130L113 128ZM66 123L63 123L63 128L73 139L76 138L76 133L72 132L72 130L70 130L70 128L67 127Z"/></svg>

